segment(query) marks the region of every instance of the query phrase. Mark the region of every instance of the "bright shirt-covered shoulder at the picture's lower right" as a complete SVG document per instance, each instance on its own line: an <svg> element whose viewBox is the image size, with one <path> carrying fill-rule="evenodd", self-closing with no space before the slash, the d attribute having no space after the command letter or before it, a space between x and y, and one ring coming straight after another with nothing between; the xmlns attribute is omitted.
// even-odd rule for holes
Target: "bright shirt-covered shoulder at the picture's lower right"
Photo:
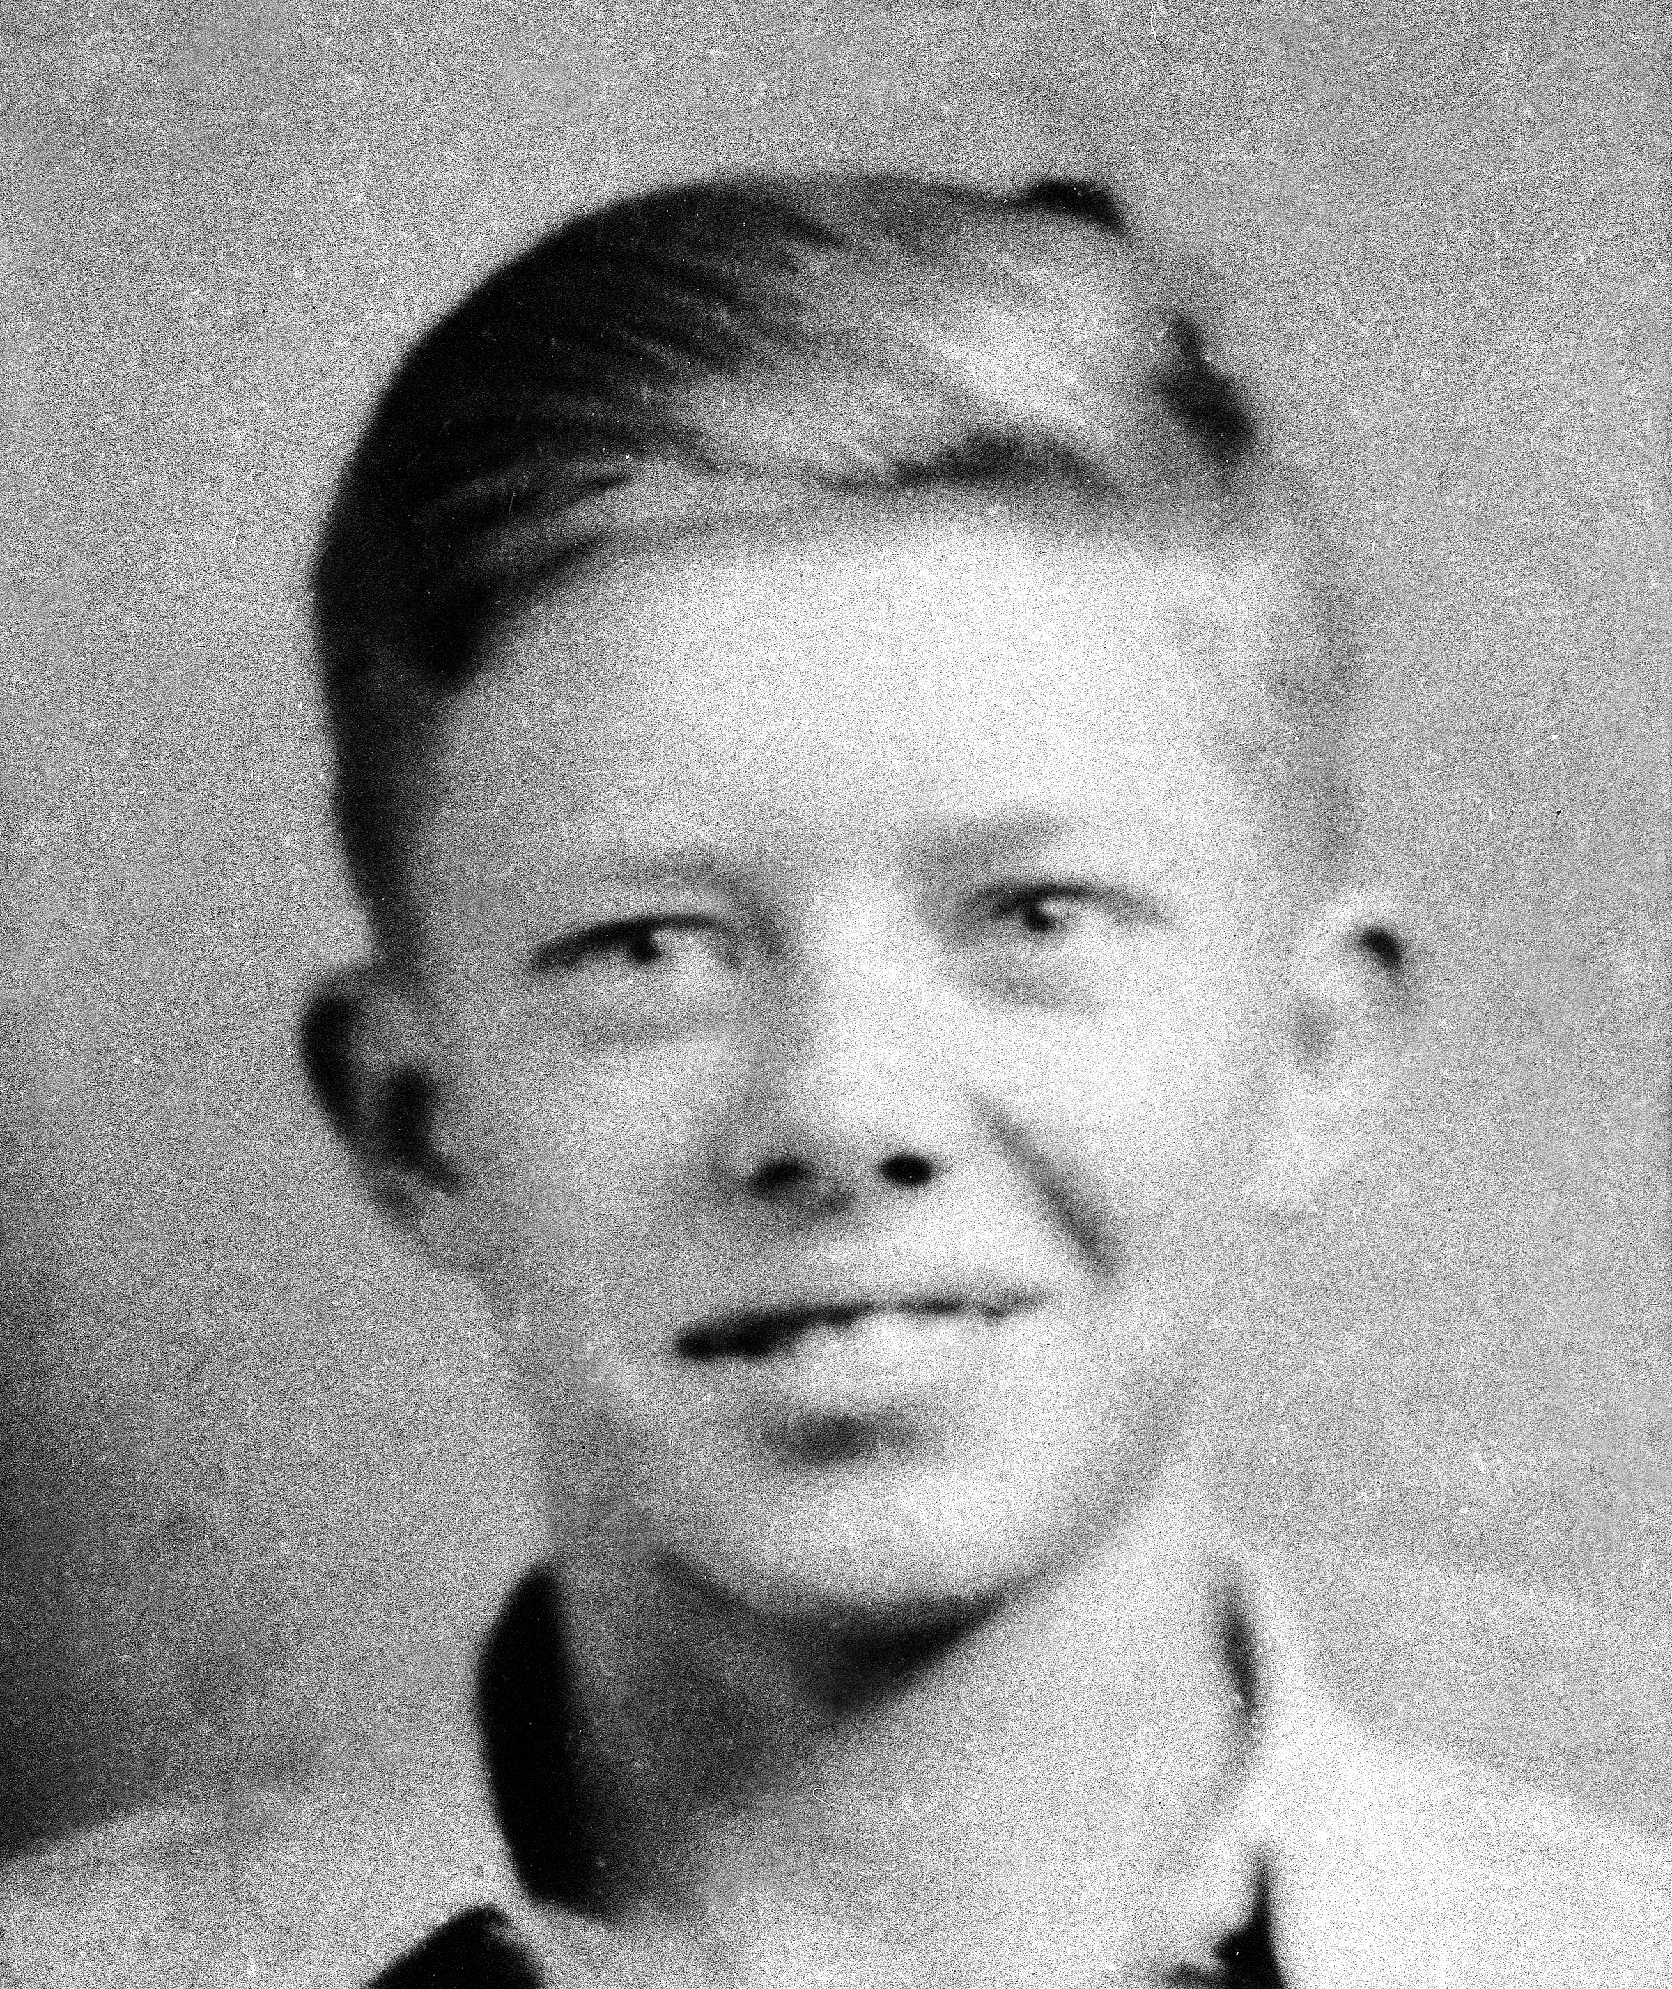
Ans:
<svg viewBox="0 0 1672 1989"><path fill-rule="evenodd" d="M1296 1989L1672 1979L1672 1852L1314 1701L1272 1736L1266 1836Z"/></svg>

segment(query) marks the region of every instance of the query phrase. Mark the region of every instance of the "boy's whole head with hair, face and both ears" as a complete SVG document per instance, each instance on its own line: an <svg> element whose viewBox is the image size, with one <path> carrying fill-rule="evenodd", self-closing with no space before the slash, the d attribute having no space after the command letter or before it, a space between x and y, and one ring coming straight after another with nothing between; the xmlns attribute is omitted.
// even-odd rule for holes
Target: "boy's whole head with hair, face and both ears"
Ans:
<svg viewBox="0 0 1672 1989"><path fill-rule="evenodd" d="M1400 959L1318 531L1107 197L571 223L400 370L316 605L378 953L308 1062L561 1559L899 1623L1137 1512Z"/></svg>

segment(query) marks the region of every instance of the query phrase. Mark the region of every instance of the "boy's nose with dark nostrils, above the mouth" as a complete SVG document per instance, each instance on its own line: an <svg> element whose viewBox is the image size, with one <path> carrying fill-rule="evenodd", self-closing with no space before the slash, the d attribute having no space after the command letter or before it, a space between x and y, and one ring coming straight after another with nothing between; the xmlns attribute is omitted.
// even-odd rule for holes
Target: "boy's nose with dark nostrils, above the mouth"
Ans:
<svg viewBox="0 0 1672 1989"><path fill-rule="evenodd" d="M944 1018L911 963L807 965L763 994L722 1136L734 1193L839 1211L932 1187L960 1146Z"/></svg>

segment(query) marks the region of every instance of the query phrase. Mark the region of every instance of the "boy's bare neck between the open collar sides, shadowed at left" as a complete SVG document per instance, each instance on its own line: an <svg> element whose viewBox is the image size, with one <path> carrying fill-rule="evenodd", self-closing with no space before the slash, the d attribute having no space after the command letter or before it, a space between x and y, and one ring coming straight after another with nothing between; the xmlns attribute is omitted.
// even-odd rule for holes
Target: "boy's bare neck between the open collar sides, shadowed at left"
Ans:
<svg viewBox="0 0 1672 1989"><path fill-rule="evenodd" d="M728 1983L1135 1961L1237 1748L1205 1537L1189 1460L1028 1591L835 1651L688 1589L569 1593L598 1907Z"/></svg>

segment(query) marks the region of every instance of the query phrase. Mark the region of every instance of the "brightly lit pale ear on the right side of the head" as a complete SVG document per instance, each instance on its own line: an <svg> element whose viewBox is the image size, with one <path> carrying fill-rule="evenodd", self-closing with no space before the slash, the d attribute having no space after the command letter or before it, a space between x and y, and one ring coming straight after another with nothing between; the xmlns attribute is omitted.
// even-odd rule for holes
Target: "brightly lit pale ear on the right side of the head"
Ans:
<svg viewBox="0 0 1672 1989"><path fill-rule="evenodd" d="M1348 893L1302 933L1254 1183L1264 1205L1316 1201L1368 1146L1412 1010L1410 981L1388 899Z"/></svg>

